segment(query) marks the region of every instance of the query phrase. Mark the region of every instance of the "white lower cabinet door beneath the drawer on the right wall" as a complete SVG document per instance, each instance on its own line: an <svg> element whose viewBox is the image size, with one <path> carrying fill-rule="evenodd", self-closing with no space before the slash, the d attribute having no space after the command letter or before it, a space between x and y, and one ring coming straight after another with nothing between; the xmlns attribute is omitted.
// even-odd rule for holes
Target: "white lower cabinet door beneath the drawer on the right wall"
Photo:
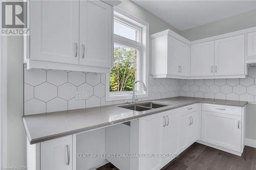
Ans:
<svg viewBox="0 0 256 170"><path fill-rule="evenodd" d="M202 112L202 140L241 152L241 116Z"/></svg>

